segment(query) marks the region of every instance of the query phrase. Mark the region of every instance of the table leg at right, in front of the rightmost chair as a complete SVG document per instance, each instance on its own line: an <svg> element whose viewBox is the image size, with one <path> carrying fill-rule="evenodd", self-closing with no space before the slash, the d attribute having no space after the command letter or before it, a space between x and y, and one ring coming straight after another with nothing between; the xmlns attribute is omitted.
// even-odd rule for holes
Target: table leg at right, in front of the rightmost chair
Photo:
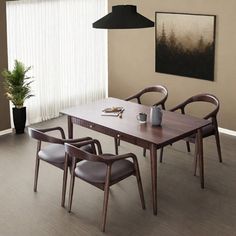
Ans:
<svg viewBox="0 0 236 236"><path fill-rule="evenodd" d="M201 187L204 188L204 162L203 162L203 142L202 142L202 131L198 129L197 131L197 158L199 163L199 173Z"/></svg>

